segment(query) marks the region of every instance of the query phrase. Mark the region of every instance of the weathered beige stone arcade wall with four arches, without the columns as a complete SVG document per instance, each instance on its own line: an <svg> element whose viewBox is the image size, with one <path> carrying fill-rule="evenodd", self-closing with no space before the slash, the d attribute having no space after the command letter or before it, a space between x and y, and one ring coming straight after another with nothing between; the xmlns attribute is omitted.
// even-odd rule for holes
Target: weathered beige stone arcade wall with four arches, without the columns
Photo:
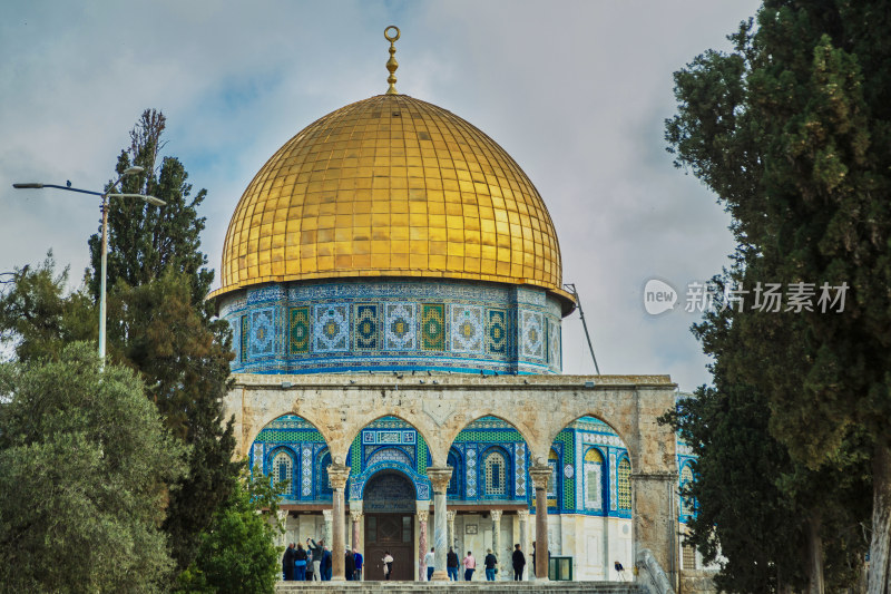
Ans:
<svg viewBox="0 0 891 594"><path fill-rule="evenodd" d="M585 416L607 422L628 448L631 462L635 551L649 548L667 572L676 567L676 438L656 419L674 407L667 376L472 377L456 374L236 374L226 398L234 416L237 454L282 415L298 415L327 444L334 464L363 427L398 417L421 434L433 466L471 421L496 416L522 435L535 465L546 465L557 435Z"/></svg>

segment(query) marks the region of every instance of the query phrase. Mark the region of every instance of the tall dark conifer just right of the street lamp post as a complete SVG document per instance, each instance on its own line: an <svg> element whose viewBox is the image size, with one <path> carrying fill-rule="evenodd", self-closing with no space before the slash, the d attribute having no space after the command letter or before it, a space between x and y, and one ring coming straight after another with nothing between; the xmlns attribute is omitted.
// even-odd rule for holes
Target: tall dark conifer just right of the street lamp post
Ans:
<svg viewBox="0 0 891 594"><path fill-rule="evenodd" d="M182 571L228 497L238 465L232 461L233 426L223 426L231 332L205 301L214 272L205 267L207 256L200 251L205 220L197 207L206 191L190 197L183 164L160 158L165 127L161 113L146 110L130 133L129 149L118 157L118 173L130 165L145 168L125 178L124 192L156 196L167 205L109 203L108 350L114 360L140 372L167 426L192 447L189 473L173 489L164 524ZM99 241L90 237L87 277L94 293Z"/></svg>

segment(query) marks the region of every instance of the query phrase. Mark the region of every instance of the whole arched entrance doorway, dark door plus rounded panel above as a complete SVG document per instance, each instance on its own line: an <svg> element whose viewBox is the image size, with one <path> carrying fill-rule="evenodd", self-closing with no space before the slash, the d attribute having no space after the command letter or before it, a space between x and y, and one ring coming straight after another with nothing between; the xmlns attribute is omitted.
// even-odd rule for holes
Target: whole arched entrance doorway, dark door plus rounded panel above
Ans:
<svg viewBox="0 0 891 594"><path fill-rule="evenodd" d="M365 580L384 580L383 558L393 557L390 580L414 580L414 485L404 475L381 471L365 484Z"/></svg>

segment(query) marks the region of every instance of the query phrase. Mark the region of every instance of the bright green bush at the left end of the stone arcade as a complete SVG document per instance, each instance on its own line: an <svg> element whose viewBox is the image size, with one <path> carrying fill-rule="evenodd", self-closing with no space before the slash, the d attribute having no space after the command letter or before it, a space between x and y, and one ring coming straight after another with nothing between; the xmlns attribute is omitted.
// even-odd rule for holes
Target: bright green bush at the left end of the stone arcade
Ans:
<svg viewBox="0 0 891 594"><path fill-rule="evenodd" d="M252 481L243 474L208 532L202 535L198 554L180 574L177 592L275 592L282 554L272 544L277 529L276 502L265 477Z"/></svg>

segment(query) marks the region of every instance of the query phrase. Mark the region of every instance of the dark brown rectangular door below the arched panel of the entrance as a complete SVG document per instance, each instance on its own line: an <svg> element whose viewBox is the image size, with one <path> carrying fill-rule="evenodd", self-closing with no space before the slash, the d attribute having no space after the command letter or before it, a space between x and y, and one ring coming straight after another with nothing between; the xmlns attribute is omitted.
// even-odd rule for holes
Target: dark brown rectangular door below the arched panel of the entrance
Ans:
<svg viewBox="0 0 891 594"><path fill-rule="evenodd" d="M410 514L365 515L364 580L384 580L383 557L393 557L390 580L414 580L414 516Z"/></svg>

